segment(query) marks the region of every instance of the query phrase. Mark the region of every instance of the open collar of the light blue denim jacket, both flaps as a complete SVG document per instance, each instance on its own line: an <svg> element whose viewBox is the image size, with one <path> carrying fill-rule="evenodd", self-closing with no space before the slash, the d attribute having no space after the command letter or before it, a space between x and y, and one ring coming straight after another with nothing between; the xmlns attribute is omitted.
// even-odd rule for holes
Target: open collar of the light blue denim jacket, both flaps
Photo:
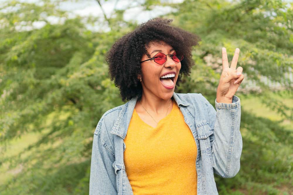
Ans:
<svg viewBox="0 0 293 195"><path fill-rule="evenodd" d="M175 92L173 93L173 98L178 106L189 105L187 102L183 100L183 96L183 94L176 94ZM138 97L134 97L124 104L124 106L122 107L122 111L120 112L110 133L118 135L125 139L137 99Z"/></svg>

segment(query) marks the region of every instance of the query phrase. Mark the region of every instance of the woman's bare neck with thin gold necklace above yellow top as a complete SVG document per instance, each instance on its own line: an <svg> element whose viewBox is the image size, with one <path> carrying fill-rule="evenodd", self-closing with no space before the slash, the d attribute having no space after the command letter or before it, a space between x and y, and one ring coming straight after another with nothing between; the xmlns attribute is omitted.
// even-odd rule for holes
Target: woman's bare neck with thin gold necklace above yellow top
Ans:
<svg viewBox="0 0 293 195"><path fill-rule="evenodd" d="M142 105L152 113L163 114L166 112L166 108L171 104L171 98L161 99L158 96L151 96L150 94L142 93L141 98ZM171 105L170 105L171 107Z"/></svg>

